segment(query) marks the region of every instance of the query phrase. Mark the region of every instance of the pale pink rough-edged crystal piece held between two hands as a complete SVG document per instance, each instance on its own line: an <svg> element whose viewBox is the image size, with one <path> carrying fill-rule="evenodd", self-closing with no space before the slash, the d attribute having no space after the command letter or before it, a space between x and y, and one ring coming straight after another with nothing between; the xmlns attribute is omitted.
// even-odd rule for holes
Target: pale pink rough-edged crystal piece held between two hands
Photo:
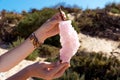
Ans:
<svg viewBox="0 0 120 80"><path fill-rule="evenodd" d="M71 25L71 20L61 21L59 23L59 29L62 45L60 59L62 62L70 62L70 59L75 55L80 46L78 35Z"/></svg>

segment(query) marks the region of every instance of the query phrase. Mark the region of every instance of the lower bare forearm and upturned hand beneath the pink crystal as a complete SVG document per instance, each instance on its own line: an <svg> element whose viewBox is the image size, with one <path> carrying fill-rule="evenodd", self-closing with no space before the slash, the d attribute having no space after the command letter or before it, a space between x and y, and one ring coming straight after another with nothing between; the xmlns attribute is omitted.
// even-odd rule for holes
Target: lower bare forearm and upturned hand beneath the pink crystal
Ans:
<svg viewBox="0 0 120 80"><path fill-rule="evenodd" d="M63 75L65 70L69 67L69 63L62 63L59 65L51 63L34 63L7 80L26 80L29 77L37 77L42 79L55 79ZM50 69L48 69L50 68Z"/></svg>

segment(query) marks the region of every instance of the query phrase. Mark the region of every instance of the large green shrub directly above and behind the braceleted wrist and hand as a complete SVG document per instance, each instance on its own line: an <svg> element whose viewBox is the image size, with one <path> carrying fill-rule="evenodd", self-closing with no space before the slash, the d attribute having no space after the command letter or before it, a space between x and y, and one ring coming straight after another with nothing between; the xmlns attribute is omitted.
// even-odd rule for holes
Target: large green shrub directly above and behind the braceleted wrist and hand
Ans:
<svg viewBox="0 0 120 80"><path fill-rule="evenodd" d="M44 8L41 11L27 14L18 24L17 30L19 35L22 37L28 37L55 13L55 9Z"/></svg>

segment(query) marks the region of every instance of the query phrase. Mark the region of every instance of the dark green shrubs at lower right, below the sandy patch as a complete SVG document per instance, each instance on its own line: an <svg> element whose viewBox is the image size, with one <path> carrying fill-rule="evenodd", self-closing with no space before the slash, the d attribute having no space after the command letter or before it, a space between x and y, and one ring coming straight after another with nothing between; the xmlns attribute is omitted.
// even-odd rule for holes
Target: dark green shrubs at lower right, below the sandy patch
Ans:
<svg viewBox="0 0 120 80"><path fill-rule="evenodd" d="M114 57L106 58L102 54L74 56L71 69L85 75L85 80L116 80L120 76L120 61Z"/></svg>

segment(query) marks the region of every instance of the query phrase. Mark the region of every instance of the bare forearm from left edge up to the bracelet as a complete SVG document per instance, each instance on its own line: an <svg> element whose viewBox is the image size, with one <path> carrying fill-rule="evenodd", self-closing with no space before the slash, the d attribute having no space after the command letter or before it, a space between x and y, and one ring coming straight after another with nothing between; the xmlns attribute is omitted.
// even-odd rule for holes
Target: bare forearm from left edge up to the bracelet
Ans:
<svg viewBox="0 0 120 80"><path fill-rule="evenodd" d="M35 50L29 39L0 56L0 72L8 71Z"/></svg>

